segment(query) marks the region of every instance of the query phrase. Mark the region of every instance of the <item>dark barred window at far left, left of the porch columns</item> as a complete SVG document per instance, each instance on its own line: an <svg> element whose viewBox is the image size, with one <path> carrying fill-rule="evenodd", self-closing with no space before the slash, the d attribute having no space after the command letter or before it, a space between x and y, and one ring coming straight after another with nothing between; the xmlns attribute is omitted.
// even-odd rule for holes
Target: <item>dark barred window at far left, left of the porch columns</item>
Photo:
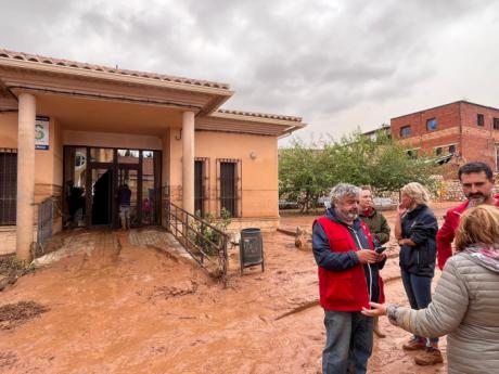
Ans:
<svg viewBox="0 0 499 374"><path fill-rule="evenodd" d="M17 199L17 150L0 149L0 225L14 225Z"/></svg>

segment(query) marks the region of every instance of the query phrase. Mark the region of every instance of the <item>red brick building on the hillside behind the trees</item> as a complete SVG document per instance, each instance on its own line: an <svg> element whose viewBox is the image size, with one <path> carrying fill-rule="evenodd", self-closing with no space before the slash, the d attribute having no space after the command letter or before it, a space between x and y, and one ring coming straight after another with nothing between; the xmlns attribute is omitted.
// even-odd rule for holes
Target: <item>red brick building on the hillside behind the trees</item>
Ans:
<svg viewBox="0 0 499 374"><path fill-rule="evenodd" d="M499 108L461 100L392 118L391 129L413 156L453 154L456 167L483 160L499 171Z"/></svg>

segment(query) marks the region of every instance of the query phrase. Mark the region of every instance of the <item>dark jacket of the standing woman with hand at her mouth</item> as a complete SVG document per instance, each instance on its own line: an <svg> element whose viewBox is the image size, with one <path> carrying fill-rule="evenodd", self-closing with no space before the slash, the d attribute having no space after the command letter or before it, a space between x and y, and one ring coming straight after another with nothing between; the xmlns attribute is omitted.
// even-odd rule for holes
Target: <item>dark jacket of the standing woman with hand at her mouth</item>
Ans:
<svg viewBox="0 0 499 374"><path fill-rule="evenodd" d="M401 221L402 237L410 238L415 246L402 245L400 268L411 274L433 278L436 262L437 220L433 210L420 204L408 211Z"/></svg>

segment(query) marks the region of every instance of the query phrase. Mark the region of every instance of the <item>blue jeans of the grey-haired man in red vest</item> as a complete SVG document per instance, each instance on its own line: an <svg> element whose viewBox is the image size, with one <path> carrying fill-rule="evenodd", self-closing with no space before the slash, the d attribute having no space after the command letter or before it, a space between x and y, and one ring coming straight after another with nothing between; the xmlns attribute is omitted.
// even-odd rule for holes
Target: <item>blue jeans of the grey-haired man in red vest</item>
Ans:
<svg viewBox="0 0 499 374"><path fill-rule="evenodd" d="M360 312L324 310L322 373L363 374L372 352L372 318Z"/></svg>

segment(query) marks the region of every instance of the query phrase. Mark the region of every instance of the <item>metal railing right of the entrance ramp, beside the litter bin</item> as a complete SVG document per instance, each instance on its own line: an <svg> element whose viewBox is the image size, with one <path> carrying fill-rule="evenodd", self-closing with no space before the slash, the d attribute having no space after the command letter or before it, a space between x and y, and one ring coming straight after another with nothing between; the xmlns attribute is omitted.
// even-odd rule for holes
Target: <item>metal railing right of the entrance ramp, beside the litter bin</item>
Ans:
<svg viewBox="0 0 499 374"><path fill-rule="evenodd" d="M229 235L171 203L167 190L165 192L166 229L203 269L216 278L225 276Z"/></svg>

